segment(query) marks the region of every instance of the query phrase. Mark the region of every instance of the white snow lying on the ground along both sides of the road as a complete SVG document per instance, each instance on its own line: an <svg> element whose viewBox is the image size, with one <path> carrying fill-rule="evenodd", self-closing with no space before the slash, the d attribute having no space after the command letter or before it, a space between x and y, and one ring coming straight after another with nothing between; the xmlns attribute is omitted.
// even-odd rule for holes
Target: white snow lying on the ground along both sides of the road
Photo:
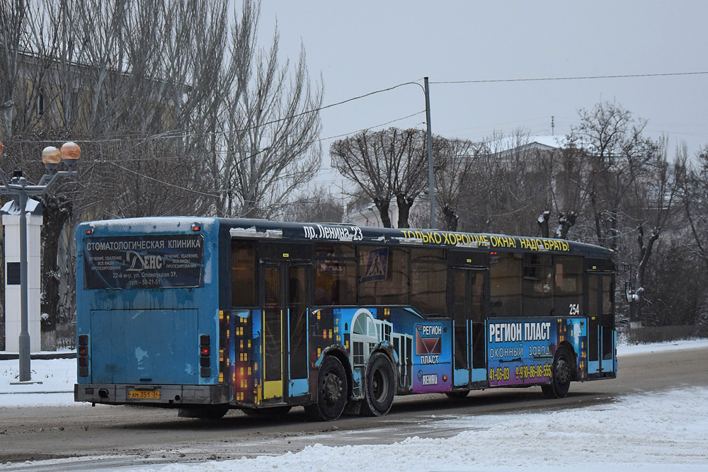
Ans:
<svg viewBox="0 0 708 472"><path fill-rule="evenodd" d="M640 352L708 346L708 340L620 346L621 358ZM0 361L0 412L8 406L70 405L74 359L32 361L33 380L11 385L17 360ZM21 390L23 389L23 390ZM8 393L11 392L11 393ZM235 461L152 466L161 471L327 471L355 464L368 471L705 471L708 470L708 388L686 388L620 398L615 403L551 413L470 415L440 420L459 427L455 437L411 437L395 444L326 447ZM336 434L333 432L332 434ZM90 460L83 458L82 460ZM40 466L49 461L38 461ZM67 464L68 465L68 464ZM143 469L146 470L146 469Z"/></svg>

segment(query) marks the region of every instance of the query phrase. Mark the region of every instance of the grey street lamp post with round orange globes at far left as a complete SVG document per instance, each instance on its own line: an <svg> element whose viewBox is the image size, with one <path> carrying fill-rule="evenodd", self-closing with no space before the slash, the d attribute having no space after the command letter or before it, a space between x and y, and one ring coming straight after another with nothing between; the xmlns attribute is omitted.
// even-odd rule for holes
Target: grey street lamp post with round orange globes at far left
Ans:
<svg viewBox="0 0 708 472"><path fill-rule="evenodd" d="M3 146L0 142L0 154ZM0 168L0 193L18 197L20 209L20 335L18 339L20 357L20 378L25 382L31 379L30 374L30 333L28 329L28 309L27 309L27 216L26 205L29 195L42 195L57 181L57 178L65 175L78 175L74 171L74 164L81 156L79 145L74 142L64 143L61 151L54 146L46 147L42 151L42 162L45 164L47 173L42 175L37 185L29 185L22 171L15 171L12 179L8 182L5 173ZM68 171L57 171L60 161L67 163Z"/></svg>

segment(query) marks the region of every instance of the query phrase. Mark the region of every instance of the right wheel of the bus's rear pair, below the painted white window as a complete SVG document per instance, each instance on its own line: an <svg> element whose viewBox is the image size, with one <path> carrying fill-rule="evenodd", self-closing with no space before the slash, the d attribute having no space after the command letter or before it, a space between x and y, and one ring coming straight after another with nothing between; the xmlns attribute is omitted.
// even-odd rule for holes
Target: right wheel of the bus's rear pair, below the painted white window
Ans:
<svg viewBox="0 0 708 472"><path fill-rule="evenodd" d="M396 376L391 359L383 352L375 352L366 368L362 416L383 416L389 413L395 393Z"/></svg>

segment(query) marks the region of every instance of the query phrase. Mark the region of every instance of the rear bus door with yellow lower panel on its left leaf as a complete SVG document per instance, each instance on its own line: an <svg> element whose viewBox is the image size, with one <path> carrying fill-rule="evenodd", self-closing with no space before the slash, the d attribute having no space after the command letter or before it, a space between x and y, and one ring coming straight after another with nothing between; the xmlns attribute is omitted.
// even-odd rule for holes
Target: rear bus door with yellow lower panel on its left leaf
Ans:
<svg viewBox="0 0 708 472"><path fill-rule="evenodd" d="M263 280L263 400L307 395L309 263L265 262Z"/></svg>

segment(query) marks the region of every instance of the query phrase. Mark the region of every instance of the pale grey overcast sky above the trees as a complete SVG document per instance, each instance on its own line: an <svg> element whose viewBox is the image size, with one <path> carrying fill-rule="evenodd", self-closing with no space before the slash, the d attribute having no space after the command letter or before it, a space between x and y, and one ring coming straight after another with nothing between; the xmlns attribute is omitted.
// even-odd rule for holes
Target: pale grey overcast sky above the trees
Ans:
<svg viewBox="0 0 708 472"><path fill-rule="evenodd" d="M648 119L652 137L668 136L671 155L683 141L691 154L708 144L708 74L435 84L708 71L708 1L264 0L261 45L276 18L282 54L297 59L302 41L325 105L428 76L433 133L445 137L546 135L552 117L555 134L566 134L579 108L615 100ZM423 110L421 87L401 86L323 110L321 136ZM424 128L425 114L389 126Z"/></svg>

